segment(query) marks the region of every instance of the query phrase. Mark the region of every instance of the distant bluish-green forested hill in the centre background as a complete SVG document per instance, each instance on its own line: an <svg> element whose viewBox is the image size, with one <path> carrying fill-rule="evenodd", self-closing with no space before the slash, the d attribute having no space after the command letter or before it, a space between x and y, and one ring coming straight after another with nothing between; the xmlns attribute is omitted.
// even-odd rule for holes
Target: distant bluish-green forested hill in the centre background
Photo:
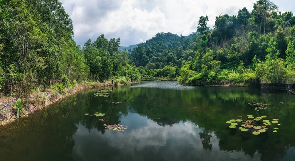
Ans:
<svg viewBox="0 0 295 161"><path fill-rule="evenodd" d="M196 33L189 36L178 36L170 32L157 33L146 42L138 44L138 47L134 48L129 54L129 60L139 67L144 79L167 77L168 75L159 73L161 69L176 70L182 66L183 59L187 60L189 57L190 59L194 57L192 48L196 36ZM188 51L184 53L186 50ZM145 73L146 71L148 73ZM175 77L175 74L172 77Z"/></svg>

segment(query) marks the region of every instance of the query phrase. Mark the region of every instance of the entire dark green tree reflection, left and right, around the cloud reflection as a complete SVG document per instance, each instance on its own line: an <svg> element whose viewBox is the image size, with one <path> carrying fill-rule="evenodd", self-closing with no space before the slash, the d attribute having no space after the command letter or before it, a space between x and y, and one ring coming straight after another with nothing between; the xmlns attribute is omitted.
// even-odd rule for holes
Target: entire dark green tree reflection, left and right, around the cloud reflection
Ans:
<svg viewBox="0 0 295 161"><path fill-rule="evenodd" d="M128 108L160 126L181 121L197 124L202 129L199 135L204 149L212 149L213 133L219 140L221 150L243 150L251 156L259 152L265 161L280 159L287 145L295 146L295 140L288 139L294 138L295 133L295 101L290 101L295 100L294 96L281 97L278 93L261 93L259 89L222 87L197 87L184 91L115 87L110 97L91 96L96 91L93 89L68 97L58 105L31 115L25 123L14 122L3 127L0 131L0 144L3 145L0 146L0 155L4 156L3 160L8 160L5 158L8 156L11 160L20 159L20 156L30 157L31 160L72 160L75 145L72 136L79 123L89 131L96 129L103 134L103 124L119 124L121 117L128 114ZM121 103L106 103L105 100ZM227 130L225 121L243 114L255 114L247 105L249 102L271 102L271 108L256 115L279 118L282 126L277 134L253 137L237 130ZM104 118L109 122L100 122L97 117L84 115L95 112L106 113ZM28 147L26 150L35 150L28 152L23 146ZM54 158L56 156L59 158Z"/></svg>

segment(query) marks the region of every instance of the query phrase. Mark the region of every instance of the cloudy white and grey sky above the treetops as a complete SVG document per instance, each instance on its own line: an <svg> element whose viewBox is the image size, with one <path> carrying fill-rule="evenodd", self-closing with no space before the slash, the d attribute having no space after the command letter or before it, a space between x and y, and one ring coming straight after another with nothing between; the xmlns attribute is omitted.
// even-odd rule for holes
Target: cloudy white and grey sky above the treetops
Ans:
<svg viewBox="0 0 295 161"><path fill-rule="evenodd" d="M295 0L272 0L280 11L295 13ZM73 20L78 45L100 34L120 38L121 46L144 42L158 32L189 35L199 17L208 15L214 26L221 14L237 15L239 9L252 10L256 0L61 0Z"/></svg>

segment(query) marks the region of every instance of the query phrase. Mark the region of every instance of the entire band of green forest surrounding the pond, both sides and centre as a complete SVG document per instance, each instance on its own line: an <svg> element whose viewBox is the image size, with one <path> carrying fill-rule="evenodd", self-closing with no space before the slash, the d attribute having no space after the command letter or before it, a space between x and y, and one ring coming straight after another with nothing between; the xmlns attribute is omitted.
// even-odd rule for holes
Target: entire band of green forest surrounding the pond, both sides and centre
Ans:
<svg viewBox="0 0 295 161"><path fill-rule="evenodd" d="M157 33L121 47L102 34L82 46L59 0L0 0L0 90L26 97L81 82L178 80L189 85L255 85L295 78L295 16L269 0L253 10L204 15L188 36Z"/></svg>

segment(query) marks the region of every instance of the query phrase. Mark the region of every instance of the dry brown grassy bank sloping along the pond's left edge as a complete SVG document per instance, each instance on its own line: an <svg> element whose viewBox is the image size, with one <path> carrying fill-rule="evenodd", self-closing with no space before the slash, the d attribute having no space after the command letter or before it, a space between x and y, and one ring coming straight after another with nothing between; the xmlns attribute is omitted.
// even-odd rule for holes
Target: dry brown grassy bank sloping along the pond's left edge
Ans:
<svg viewBox="0 0 295 161"><path fill-rule="evenodd" d="M21 115L21 117L28 117L30 113L38 111L51 105L65 97L76 94L79 91L99 88L99 87L108 87L108 86L123 86L128 84L134 84L138 82L124 82L120 83L114 81L112 84L111 81L106 81L103 83L100 82L84 82L81 84L76 84L75 86L61 88L60 84L54 84L49 88L39 91L36 90L30 95L30 101L23 108L23 111L26 116ZM17 119L16 113L12 108L12 105L17 102L18 98L15 97L2 97L0 98L0 126L7 125Z"/></svg>

